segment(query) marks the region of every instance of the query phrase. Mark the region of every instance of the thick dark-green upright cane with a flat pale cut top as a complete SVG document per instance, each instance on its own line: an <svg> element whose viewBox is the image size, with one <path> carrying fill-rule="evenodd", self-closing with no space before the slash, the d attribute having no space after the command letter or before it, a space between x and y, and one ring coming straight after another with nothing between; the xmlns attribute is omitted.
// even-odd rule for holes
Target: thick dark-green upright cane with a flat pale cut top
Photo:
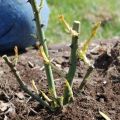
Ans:
<svg viewBox="0 0 120 120"><path fill-rule="evenodd" d="M80 22L74 21L73 24L73 30L79 33L80 29ZM71 55L70 55L70 68L66 75L66 80L68 81L70 87L72 88L73 84L73 78L76 72L76 66L77 66L77 49L78 49L78 36L72 36L72 44L71 44ZM67 104L72 96L69 94L69 89L66 86L64 89L64 101L63 104Z"/></svg>

